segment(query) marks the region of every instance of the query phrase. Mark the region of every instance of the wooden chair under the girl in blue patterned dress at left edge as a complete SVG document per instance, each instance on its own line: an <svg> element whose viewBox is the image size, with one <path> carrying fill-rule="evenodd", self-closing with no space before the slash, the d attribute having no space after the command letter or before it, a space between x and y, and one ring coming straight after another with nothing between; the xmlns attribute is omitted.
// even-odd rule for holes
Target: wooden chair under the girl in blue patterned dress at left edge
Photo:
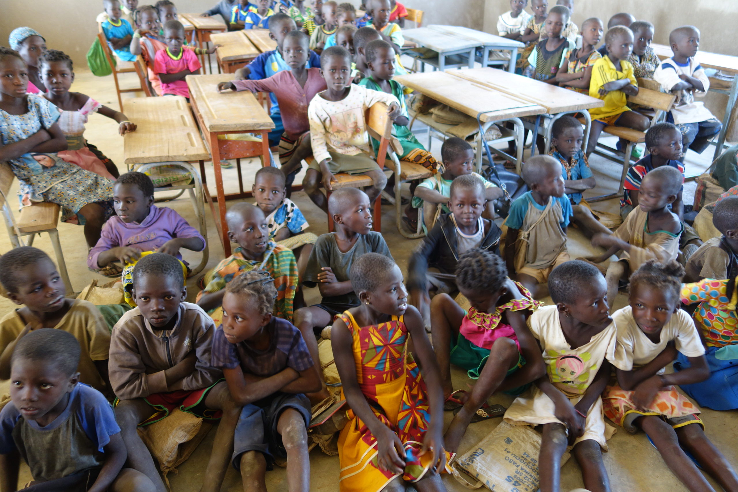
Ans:
<svg viewBox="0 0 738 492"><path fill-rule="evenodd" d="M72 294L74 289L72 288L72 283L69 281L69 274L66 271L66 262L61 251L59 232L57 230L61 207L58 204L52 204L47 201L34 202L30 207L23 207L20 215L18 215L18 221L15 221L10 204L8 203L10 185L13 183L13 179L15 179L15 175L13 174L13 170L10 169L10 164L0 162L0 207L10 243L13 244L14 248L33 246L33 239L36 234L48 232L56 255L57 268L59 269L59 274L61 274L66 293ZM24 243L22 239L24 236L29 236L27 243Z"/></svg>

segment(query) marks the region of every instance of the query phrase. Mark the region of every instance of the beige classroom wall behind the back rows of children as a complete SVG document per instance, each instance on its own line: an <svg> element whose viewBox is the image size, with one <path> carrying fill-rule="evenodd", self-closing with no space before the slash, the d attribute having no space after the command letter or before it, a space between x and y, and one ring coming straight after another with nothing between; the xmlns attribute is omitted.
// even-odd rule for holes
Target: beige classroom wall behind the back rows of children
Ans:
<svg viewBox="0 0 738 492"><path fill-rule="evenodd" d="M554 4L554 0L549 2ZM180 12L200 12L215 3L176 0ZM7 46L13 28L29 26L44 35L49 47L61 49L76 63L84 64L97 32L94 18L103 10L102 4L102 0L0 0L0 44ZM424 10L424 24L461 25L488 32L494 32L497 15L508 10L505 0L407 0L405 5ZM694 24L702 30L701 49L738 55L736 0L576 0L573 20L580 26L593 16L607 22L618 12L653 22L657 27L655 42L666 43L670 30Z"/></svg>

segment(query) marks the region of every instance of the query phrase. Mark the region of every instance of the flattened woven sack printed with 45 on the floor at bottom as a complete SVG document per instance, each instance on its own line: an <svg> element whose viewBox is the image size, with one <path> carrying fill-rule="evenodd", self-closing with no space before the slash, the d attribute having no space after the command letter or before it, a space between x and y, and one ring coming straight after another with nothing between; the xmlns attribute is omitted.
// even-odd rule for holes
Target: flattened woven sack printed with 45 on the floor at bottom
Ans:
<svg viewBox="0 0 738 492"><path fill-rule="evenodd" d="M466 488L494 492L536 492L541 434L529 426L502 422L453 462L454 478ZM563 465L569 451L562 456Z"/></svg>

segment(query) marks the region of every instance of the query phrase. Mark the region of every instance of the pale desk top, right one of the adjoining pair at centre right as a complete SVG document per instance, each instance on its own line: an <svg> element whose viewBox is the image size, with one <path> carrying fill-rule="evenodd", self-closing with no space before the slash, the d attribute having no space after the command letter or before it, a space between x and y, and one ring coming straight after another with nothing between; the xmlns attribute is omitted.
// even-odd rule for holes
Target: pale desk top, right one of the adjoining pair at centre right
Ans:
<svg viewBox="0 0 738 492"><path fill-rule="evenodd" d="M577 91L534 80L523 75L515 75L506 70L492 68L447 70L446 73L489 86L531 103L542 105L550 114L565 111L578 111L599 108L604 101Z"/></svg>

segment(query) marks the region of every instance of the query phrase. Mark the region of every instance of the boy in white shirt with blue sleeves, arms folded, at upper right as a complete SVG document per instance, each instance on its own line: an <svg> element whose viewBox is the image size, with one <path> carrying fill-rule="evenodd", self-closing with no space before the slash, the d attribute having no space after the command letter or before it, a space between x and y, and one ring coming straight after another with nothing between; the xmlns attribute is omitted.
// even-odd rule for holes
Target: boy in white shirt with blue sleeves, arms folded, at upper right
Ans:
<svg viewBox="0 0 738 492"><path fill-rule="evenodd" d="M682 132L685 149L703 153L723 124L704 103L694 100L694 97L704 97L710 89L705 69L694 59L700 46L700 30L694 26L677 27L669 34L669 45L674 56L663 60L653 75L662 91L677 94L677 103L666 115L666 121L673 122Z"/></svg>

